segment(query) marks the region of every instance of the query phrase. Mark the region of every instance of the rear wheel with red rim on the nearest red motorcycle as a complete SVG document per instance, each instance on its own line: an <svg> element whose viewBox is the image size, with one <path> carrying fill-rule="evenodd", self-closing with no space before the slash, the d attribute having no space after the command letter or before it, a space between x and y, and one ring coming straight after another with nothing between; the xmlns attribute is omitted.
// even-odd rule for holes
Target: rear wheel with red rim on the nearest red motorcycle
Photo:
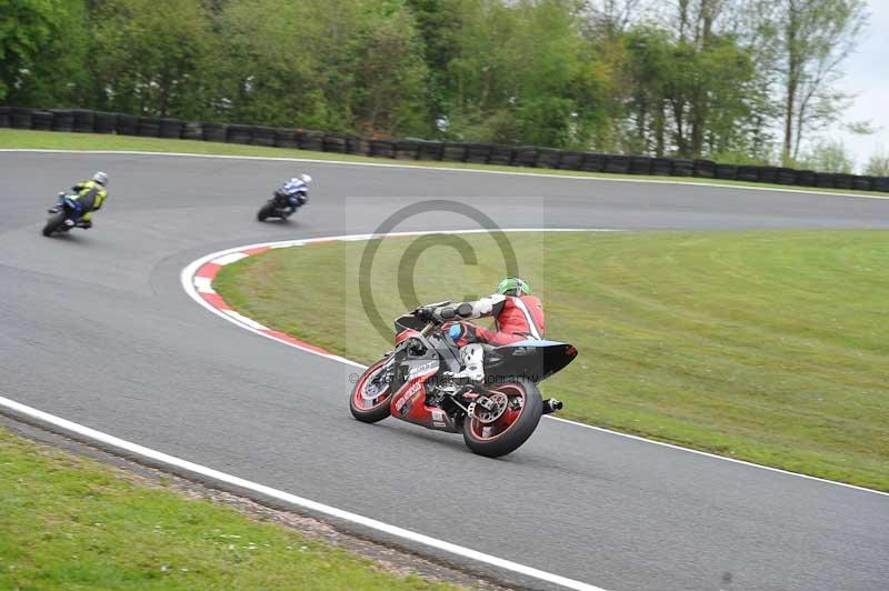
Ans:
<svg viewBox="0 0 889 591"><path fill-rule="evenodd" d="M499 458L528 441L543 414L543 399L537 384L525 379L499 383L489 391L506 394L507 410L488 424L471 417L463 419L463 441L473 453ZM519 409L512 408L517 404Z"/></svg>

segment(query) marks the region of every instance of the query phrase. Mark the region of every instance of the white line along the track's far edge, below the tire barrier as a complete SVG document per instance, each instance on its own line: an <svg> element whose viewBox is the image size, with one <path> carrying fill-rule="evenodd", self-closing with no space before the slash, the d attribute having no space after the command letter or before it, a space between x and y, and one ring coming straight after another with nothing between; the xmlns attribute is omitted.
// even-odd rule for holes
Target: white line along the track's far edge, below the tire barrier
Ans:
<svg viewBox="0 0 889 591"><path fill-rule="evenodd" d="M374 167L374 168L396 168L396 169L419 169L419 170L441 170L446 172L473 172L480 174L512 174L518 177L541 177L547 179L569 179L569 180L585 180L585 181L605 181L605 182L635 182L635 183L660 183L660 184L681 184L686 187L713 187L719 189L738 189L747 191L769 191L781 193L803 193L816 194L822 197L846 197L846 198L860 198L860 199L882 199L889 200L889 196L881 194L865 194L865 193L840 193L828 192L806 189L783 189L780 187L753 187L749 184L729 184L729 183L711 183L711 182L693 182L693 181L678 181L678 180L660 180L660 179L627 179L627 178L608 178L608 177L586 177L580 174L547 174L543 172L523 172L511 170L485 170L479 168L452 168L452 167L427 167L422 164L396 164L388 162L350 162L348 160L318 160L312 158L284 158L284 157L266 157L266 156L229 156L229 154L196 154L189 152L150 152L142 150L49 150L39 148L0 148L0 152L37 152L37 153L73 153L73 154L129 154L129 156L171 156L177 158L218 158L226 160L268 160L268 161L282 161L282 162L312 162L316 164L333 164L344 167ZM419 161L418 161L419 162ZM485 164L479 164L485 166ZM607 174L602 172L601 174Z"/></svg>

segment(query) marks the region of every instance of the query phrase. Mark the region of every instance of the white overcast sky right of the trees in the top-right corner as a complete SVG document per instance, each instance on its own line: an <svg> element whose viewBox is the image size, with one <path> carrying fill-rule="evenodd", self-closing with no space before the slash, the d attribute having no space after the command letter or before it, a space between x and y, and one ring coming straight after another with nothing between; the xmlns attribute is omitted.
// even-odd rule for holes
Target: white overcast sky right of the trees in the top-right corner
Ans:
<svg viewBox="0 0 889 591"><path fill-rule="evenodd" d="M842 67L846 76L839 88L856 94L842 120L871 121L877 132L855 136L835 126L830 138L825 134L825 139L839 138L846 144L859 171L875 152L889 152L889 0L868 0L868 8L870 23Z"/></svg>

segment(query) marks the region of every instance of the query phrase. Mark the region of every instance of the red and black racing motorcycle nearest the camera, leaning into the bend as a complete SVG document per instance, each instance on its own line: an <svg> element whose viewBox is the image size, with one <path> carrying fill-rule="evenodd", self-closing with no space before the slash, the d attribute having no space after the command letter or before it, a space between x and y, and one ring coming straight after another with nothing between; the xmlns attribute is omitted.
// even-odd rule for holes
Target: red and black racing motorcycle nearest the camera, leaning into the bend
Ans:
<svg viewBox="0 0 889 591"><path fill-rule="evenodd" d="M459 318L471 314L471 308L461 308ZM356 419L374 423L392 415L427 429L462 432L475 453L498 458L525 443L541 415L562 408L556 399L545 401L538 383L573 361L573 345L543 340L485 344L485 380L471 383L452 378L460 371L459 348L424 310L394 321L394 350L356 382L349 399Z"/></svg>

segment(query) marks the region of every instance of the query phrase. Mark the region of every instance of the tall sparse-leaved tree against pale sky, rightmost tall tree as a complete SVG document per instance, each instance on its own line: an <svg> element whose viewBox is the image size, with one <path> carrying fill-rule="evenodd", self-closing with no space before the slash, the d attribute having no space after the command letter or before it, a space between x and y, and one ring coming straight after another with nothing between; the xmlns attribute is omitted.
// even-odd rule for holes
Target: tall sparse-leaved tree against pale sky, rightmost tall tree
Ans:
<svg viewBox="0 0 889 591"><path fill-rule="evenodd" d="M867 23L863 0L768 0L761 14L777 59L783 119L782 159L795 160L806 132L835 120L848 94L840 67Z"/></svg>

